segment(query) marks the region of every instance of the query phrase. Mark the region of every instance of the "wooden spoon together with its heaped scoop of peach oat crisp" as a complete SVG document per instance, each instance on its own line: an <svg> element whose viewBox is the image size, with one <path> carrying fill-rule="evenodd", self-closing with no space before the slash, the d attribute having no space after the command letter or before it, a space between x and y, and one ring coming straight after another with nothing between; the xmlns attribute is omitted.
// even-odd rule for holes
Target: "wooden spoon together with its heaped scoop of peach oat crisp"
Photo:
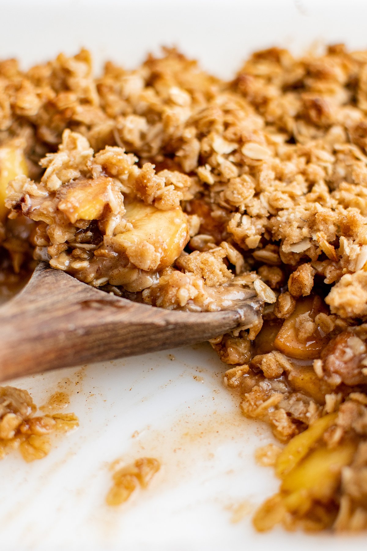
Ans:
<svg viewBox="0 0 367 551"><path fill-rule="evenodd" d="M41 159L40 181L25 161L14 165L15 153L8 147L2 163L3 183L13 177L7 216L32 221L43 262L0 309L0 379L259 327L264 300L276 296L249 271L226 223L216 238L203 233L216 222L190 203L190 176L140 168L118 147L94 153L69 129Z"/></svg>

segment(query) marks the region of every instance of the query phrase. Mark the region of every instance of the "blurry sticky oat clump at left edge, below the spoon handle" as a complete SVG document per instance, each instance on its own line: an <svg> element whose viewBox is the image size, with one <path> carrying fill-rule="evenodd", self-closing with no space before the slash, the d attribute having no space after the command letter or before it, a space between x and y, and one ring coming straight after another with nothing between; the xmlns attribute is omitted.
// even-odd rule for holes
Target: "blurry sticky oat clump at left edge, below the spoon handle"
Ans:
<svg viewBox="0 0 367 551"><path fill-rule="evenodd" d="M37 416L36 410L27 391L0 387L0 458L19 448L25 461L41 459L52 447L48 435L68 432L79 426L74 413Z"/></svg>

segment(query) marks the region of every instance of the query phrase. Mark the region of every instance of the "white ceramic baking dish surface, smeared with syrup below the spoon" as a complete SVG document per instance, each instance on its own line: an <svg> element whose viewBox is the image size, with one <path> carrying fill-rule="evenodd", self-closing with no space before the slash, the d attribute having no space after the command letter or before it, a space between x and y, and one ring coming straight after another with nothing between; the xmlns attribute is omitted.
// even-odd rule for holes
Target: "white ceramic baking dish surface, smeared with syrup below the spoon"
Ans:
<svg viewBox="0 0 367 551"><path fill-rule="evenodd" d="M0 57L29 66L87 46L97 67L106 58L134 66L148 50L176 44L229 77L251 50L273 44L366 47L366 15L365 3L351 0L0 0ZM253 458L271 436L240 416L222 371L202 344L13 381L38 404L57 388L69 392L80 428L41 461L14 454L0 463L0 549L365 549L362 536L253 531L249 512L277 488ZM109 463L139 456L159 458L160 473L108 509ZM233 523L236 508L244 516Z"/></svg>

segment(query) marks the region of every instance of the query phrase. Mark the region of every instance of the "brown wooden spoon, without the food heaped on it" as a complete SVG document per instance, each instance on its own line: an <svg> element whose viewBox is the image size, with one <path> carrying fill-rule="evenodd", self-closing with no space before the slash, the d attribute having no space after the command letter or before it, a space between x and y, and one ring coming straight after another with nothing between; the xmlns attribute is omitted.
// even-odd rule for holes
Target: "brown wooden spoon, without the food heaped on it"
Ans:
<svg viewBox="0 0 367 551"><path fill-rule="evenodd" d="M237 310L163 310L41 262L26 287L0 308L0 380L206 341L251 323L261 309L254 295Z"/></svg>

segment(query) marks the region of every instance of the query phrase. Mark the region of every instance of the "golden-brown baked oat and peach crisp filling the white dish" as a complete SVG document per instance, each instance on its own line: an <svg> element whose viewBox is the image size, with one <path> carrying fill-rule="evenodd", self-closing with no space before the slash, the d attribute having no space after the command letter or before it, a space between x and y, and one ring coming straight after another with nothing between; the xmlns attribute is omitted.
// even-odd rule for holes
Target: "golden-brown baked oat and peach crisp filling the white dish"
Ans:
<svg viewBox="0 0 367 551"><path fill-rule="evenodd" d="M0 63L0 284L45 260L169 309L265 302L211 343L285 444L258 453L281 478L258 530L367 528L366 75L343 45L255 52L230 82L174 49L97 79L85 50Z"/></svg>

